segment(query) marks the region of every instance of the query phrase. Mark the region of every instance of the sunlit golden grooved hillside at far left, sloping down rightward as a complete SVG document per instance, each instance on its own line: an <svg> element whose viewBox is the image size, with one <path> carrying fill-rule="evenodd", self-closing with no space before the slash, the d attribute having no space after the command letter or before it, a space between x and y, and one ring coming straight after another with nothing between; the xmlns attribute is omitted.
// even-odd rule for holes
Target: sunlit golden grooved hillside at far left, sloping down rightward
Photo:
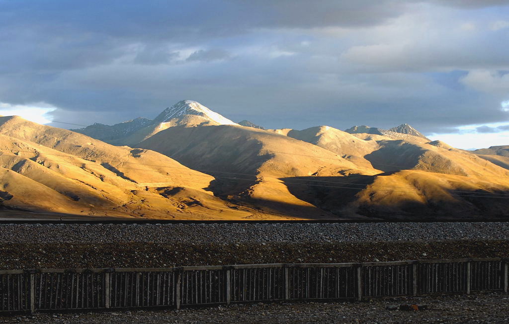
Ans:
<svg viewBox="0 0 509 324"><path fill-rule="evenodd" d="M205 190L212 176L162 154L17 116L0 117L0 172L0 204L13 209L170 219L257 213L215 197Z"/></svg>

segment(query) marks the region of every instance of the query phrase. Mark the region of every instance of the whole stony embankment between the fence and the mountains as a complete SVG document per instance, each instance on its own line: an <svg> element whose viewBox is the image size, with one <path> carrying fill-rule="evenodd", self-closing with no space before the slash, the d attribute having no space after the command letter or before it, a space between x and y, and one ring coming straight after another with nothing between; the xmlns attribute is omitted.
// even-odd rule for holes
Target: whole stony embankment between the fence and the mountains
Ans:
<svg viewBox="0 0 509 324"><path fill-rule="evenodd" d="M2 224L0 269L509 257L509 223Z"/></svg>

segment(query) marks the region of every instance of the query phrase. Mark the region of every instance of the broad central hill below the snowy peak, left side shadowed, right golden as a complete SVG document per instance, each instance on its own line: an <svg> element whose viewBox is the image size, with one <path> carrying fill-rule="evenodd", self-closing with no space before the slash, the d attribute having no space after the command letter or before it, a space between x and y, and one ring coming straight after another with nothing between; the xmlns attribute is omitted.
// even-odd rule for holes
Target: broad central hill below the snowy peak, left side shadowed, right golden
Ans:
<svg viewBox="0 0 509 324"><path fill-rule="evenodd" d="M286 211L293 209L292 213L301 217L310 212L324 217L332 215L297 199L279 178L379 172L367 166L358 167L317 145L241 126L172 127L139 146L215 176L221 172L239 173L238 178L248 180L225 181L216 186L216 194L233 200L263 201L261 208L271 213L285 212L282 207Z"/></svg>

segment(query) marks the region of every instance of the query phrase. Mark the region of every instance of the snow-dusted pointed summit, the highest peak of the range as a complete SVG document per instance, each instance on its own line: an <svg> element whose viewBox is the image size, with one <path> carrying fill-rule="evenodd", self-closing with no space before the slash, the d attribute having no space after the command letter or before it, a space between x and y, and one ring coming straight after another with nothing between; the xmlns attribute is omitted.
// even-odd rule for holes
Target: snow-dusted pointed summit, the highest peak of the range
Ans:
<svg viewBox="0 0 509 324"><path fill-rule="evenodd" d="M182 100L177 102L175 105L164 109L164 111L161 112L154 121L157 123L165 123L183 115L202 116L220 125L238 125L217 112L210 110L199 102L192 100Z"/></svg>

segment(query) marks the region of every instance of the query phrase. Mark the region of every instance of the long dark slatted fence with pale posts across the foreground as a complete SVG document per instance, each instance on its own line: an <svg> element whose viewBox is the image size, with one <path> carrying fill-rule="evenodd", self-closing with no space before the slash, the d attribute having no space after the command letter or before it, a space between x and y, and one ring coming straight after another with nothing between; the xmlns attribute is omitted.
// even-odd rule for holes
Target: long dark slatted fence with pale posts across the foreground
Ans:
<svg viewBox="0 0 509 324"><path fill-rule="evenodd" d="M507 292L508 259L0 271L0 312Z"/></svg>

